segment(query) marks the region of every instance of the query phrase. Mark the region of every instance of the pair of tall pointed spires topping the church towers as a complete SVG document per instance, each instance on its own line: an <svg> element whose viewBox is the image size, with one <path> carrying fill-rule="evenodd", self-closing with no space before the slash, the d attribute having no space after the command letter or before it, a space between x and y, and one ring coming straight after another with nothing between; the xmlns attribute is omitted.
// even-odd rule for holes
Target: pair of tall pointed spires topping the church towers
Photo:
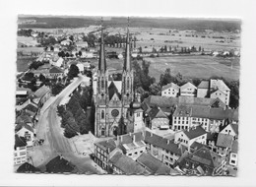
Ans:
<svg viewBox="0 0 256 187"><path fill-rule="evenodd" d="M101 17L101 38L100 38L100 49L99 49L99 61L98 61L98 70L100 72L106 71L106 61L105 61L105 49L104 49L104 37L103 37L103 27L102 27L102 17ZM126 48L125 48L125 57L124 57L124 66L123 70L128 72L131 71L130 63L130 33L129 33L129 17L128 17L128 27L127 27L127 36L126 36Z"/></svg>

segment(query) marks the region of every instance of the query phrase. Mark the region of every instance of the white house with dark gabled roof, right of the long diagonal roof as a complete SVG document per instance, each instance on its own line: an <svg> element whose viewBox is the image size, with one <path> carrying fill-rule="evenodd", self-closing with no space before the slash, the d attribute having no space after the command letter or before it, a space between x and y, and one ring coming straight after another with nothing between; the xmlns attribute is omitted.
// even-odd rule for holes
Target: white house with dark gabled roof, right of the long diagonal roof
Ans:
<svg viewBox="0 0 256 187"><path fill-rule="evenodd" d="M207 132L201 126L192 127L183 131L177 131L174 134L175 143L184 145L188 148L188 151L190 151L190 147L194 142L206 145L206 139Z"/></svg>

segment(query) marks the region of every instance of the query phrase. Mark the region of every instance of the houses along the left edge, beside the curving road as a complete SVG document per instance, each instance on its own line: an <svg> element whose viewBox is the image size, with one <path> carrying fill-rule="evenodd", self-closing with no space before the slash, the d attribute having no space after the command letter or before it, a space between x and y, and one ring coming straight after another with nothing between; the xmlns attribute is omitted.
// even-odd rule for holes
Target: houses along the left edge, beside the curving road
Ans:
<svg viewBox="0 0 256 187"><path fill-rule="evenodd" d="M33 146L39 145L34 125L38 120L40 108L50 96L51 91L46 86L42 86L34 93L30 89L16 89L15 165L28 162L28 152Z"/></svg>

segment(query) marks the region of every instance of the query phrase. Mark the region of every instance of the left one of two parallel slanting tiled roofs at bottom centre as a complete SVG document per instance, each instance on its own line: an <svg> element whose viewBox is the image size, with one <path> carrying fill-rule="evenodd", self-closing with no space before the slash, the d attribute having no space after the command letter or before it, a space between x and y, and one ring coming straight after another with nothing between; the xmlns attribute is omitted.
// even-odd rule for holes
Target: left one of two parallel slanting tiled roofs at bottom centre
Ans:
<svg viewBox="0 0 256 187"><path fill-rule="evenodd" d="M110 161L125 174L142 174L145 171L143 166L141 166L138 162L119 152L112 156Z"/></svg>

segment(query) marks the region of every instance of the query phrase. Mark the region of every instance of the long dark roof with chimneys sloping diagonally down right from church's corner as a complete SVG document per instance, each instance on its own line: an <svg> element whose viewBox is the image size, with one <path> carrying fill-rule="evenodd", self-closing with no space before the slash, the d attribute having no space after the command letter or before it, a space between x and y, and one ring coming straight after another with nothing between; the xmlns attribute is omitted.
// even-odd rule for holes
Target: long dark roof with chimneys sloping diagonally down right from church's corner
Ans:
<svg viewBox="0 0 256 187"><path fill-rule="evenodd" d="M181 150L179 149L178 144L174 143L174 140L168 140L160 137L159 135L146 131L145 142L181 156Z"/></svg>

